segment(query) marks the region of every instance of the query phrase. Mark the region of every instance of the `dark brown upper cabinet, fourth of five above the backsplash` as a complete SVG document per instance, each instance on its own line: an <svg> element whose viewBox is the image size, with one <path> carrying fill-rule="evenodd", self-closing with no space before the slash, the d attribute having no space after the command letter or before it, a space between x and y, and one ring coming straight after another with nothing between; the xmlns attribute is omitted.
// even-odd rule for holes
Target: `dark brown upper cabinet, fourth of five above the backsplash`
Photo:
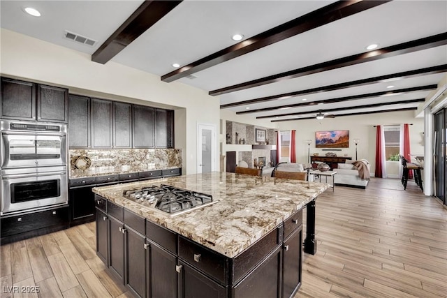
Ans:
<svg viewBox="0 0 447 298"><path fill-rule="evenodd" d="M155 109L133 105L133 148L154 148Z"/></svg>

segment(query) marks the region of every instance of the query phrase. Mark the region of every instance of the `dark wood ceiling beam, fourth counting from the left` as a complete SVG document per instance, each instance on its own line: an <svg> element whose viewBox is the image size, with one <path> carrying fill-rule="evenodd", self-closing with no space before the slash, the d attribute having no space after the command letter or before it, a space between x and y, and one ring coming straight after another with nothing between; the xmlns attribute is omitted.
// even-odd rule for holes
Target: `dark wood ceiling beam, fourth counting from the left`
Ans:
<svg viewBox="0 0 447 298"><path fill-rule="evenodd" d="M249 100L242 100L242 101L237 101L235 103L227 103L226 105L221 105L221 109L225 109L228 107L237 107L240 105L253 105L255 103L265 103L265 102L277 100L277 99L287 99L287 98L292 98L292 97L296 97L296 96L304 96L304 95L309 95L309 94L323 93L323 92L335 91L335 90L339 90L339 89L366 86L368 84L376 84L379 82L385 82L386 80L391 80L391 79L396 79L396 78L409 79L411 77L419 77L421 75L433 75L435 73L445 73L446 71L447 71L447 64L443 64L443 65L439 65L439 66L432 66L432 67L420 68L420 69L416 69L416 70L404 71L402 73L381 75L379 77L369 77L369 78L363 79L363 80L344 82L344 83L340 83L340 84L332 84L332 85L323 86L323 87L316 87L316 88L312 88L312 89L293 91L293 92L289 92L289 93L265 96L265 97L254 98L254 99L249 99Z"/></svg>

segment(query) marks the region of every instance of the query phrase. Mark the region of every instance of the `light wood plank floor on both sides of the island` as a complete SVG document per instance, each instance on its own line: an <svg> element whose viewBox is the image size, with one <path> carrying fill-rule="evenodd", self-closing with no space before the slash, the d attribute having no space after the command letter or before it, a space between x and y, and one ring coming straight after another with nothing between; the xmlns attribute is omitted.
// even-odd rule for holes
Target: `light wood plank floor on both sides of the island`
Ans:
<svg viewBox="0 0 447 298"><path fill-rule="evenodd" d="M335 186L316 201L316 231L296 297L447 297L447 209L413 181ZM1 297L132 297L94 248L94 223L1 246Z"/></svg>

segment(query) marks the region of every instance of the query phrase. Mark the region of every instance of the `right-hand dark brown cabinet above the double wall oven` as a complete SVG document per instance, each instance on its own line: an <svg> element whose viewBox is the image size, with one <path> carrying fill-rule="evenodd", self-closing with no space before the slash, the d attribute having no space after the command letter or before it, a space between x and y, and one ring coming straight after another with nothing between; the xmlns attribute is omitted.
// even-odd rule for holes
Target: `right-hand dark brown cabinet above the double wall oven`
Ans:
<svg viewBox="0 0 447 298"><path fill-rule="evenodd" d="M68 122L68 90L37 85L37 120Z"/></svg>

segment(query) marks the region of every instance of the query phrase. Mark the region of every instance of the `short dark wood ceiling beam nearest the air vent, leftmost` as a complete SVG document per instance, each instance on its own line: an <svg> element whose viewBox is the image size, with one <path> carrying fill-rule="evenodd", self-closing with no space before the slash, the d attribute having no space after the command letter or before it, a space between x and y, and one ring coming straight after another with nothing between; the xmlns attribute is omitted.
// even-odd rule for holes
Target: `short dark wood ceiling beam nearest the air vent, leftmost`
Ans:
<svg viewBox="0 0 447 298"><path fill-rule="evenodd" d="M182 0L144 1L91 55L91 61L105 64L181 2Z"/></svg>

